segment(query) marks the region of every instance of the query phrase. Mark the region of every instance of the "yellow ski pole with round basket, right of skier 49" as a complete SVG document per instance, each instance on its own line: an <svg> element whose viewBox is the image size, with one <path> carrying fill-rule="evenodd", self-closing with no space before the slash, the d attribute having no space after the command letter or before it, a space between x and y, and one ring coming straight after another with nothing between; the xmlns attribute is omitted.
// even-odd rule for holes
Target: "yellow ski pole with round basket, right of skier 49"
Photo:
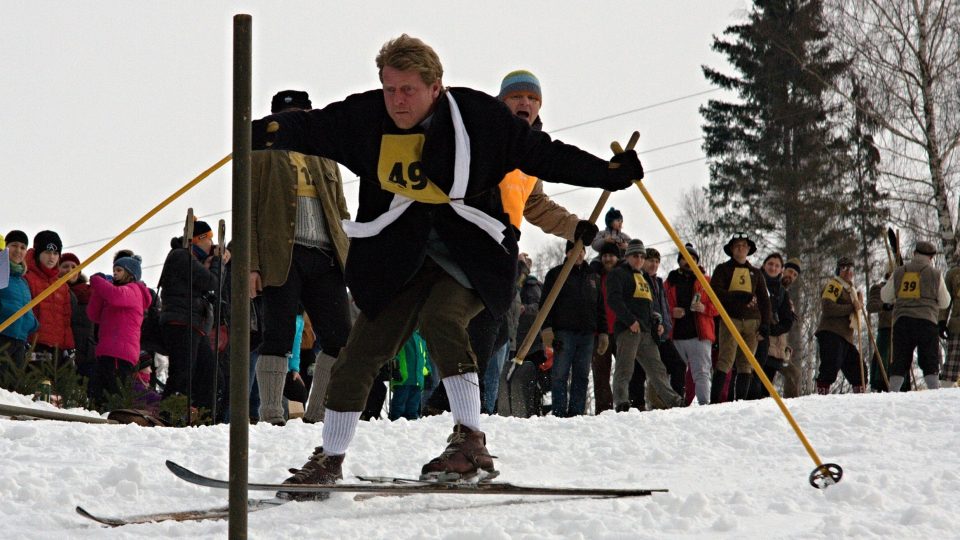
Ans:
<svg viewBox="0 0 960 540"><path fill-rule="evenodd" d="M615 153L622 151L620 143L616 141L611 143L610 147ZM687 251L687 248L683 245L683 241L680 240L680 236L677 235L677 231L673 229L673 226L670 225L669 221L667 221L667 218L663 215L663 212L660 211L660 207L657 206L657 203L653 200L653 197L650 196L650 192L647 191L647 188L643 185L643 182L638 180L634 183L638 188L640 188L640 192L643 193L643 197L647 200L647 204L650 205L653 213L656 214L657 219L660 220L661 225L663 225L663 228L667 231L667 234L670 235L673 243L676 244L680 254L683 255L684 260L687 261L687 264L690 266L690 270L692 270L694 275L697 276L697 281L699 281L700 285L703 286L703 289L707 292L707 296L710 297L713 305L717 307L717 311L720 312L720 318L723 319L723 324L727 326L727 329L730 330L730 334L733 335L734 339L737 340L737 345L739 345L740 350L743 351L744 356L747 357L747 360L753 367L753 371L757 374L757 377L760 378L760 382L763 383L767 391L770 392L770 396L774 399L774 401L777 402L777 406L780 407L780 411L783 413L784 417L786 417L787 422L790 423L790 427L793 428L794 432L797 434L797 438L800 439L800 442L807 450L810 458L813 459L813 462L817 465L813 472L810 473L810 485L819 489L826 488L839 482L840 478L843 477L843 469L834 463L825 464L820 461L820 456L817 455L817 452L810 445L810 442L803 434L803 431L800 430L800 426L797 424L796 420L793 419L793 415L791 415L790 411L787 410L787 406L783 403L783 399L780 397L777 389L774 388L773 383L770 382L770 379L768 379L766 374L763 372L763 368L760 367L760 364L757 362L753 352L750 351L750 347L747 347L747 343L743 340L743 336L740 335L740 332L737 331L737 328L733 325L730 315L727 314L727 310L724 309L720 299L717 298L717 293L713 291L713 288L710 286L710 282L707 280L706 276L703 275L703 272L700 271L700 266L697 264L697 261L690 255L690 252Z"/></svg>

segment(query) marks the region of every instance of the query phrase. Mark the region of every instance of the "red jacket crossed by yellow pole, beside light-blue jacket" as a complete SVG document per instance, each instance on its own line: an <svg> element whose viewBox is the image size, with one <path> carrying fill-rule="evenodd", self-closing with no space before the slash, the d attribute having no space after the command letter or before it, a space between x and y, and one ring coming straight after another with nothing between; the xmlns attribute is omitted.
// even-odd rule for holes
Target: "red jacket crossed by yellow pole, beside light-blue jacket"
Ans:
<svg viewBox="0 0 960 540"><path fill-rule="evenodd" d="M36 298L40 293L59 279L60 270L56 267L45 268L34 259L33 249L27 251L27 283L30 285L30 294ZM30 336L32 342L60 350L73 349L73 328L70 326L70 317L73 308L70 305L70 288L60 286L50 296L34 306L33 313L40 321L40 330Z"/></svg>

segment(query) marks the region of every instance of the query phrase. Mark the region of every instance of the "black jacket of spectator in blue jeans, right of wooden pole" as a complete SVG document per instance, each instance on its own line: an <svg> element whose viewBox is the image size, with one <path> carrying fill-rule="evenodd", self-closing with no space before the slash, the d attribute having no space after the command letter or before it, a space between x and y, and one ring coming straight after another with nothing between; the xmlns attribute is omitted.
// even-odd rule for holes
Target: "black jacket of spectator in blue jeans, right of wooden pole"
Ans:
<svg viewBox="0 0 960 540"><path fill-rule="evenodd" d="M540 309L543 309L543 301L557 283L557 276L562 268L562 265L554 266L547 272L543 281L544 294L540 299ZM605 307L600 289L600 275L586 262L579 266L574 265L554 301L553 309L543 320L543 327L573 332L606 333Z"/></svg>

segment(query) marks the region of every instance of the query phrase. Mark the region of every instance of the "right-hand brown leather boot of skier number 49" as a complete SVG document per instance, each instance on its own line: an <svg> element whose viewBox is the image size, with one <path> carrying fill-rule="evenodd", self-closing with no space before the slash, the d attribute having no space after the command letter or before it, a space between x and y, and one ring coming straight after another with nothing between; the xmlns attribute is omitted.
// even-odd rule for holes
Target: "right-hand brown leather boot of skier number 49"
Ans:
<svg viewBox="0 0 960 540"><path fill-rule="evenodd" d="M500 474L493 468L493 458L487 452L487 436L457 424L447 437L446 450L430 460L420 471L420 480L434 482L463 482L491 480Z"/></svg>

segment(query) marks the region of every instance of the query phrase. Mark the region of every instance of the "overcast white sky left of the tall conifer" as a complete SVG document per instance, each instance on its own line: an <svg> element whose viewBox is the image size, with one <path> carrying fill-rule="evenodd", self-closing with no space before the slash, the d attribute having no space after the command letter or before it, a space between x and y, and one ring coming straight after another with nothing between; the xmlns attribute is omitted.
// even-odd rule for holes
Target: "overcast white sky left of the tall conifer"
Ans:
<svg viewBox="0 0 960 540"><path fill-rule="evenodd" d="M710 51L711 36L741 21L746 5L5 0L0 234L18 228L32 239L52 229L84 259L228 154L237 13L253 16L255 117L269 113L271 96L285 88L307 90L322 106L378 87L374 56L406 32L437 50L449 86L496 94L507 72L533 71L543 85L545 129L565 142L608 156L612 140L625 142L639 130L641 160L652 171L647 186L676 216L680 192L706 185L700 141L686 141L702 135L698 108L721 94L677 98L712 90L700 66L722 67L725 60ZM677 101L657 105L670 100ZM611 115L619 116L561 129ZM675 146L644 151L667 145ZM344 171L351 211L355 180ZM564 193L569 189L547 186L558 202L587 216L599 191ZM634 237L667 239L639 190L616 193L610 204L623 211ZM153 230L119 244L143 256L148 284L156 283L190 206L214 228L226 218L229 236L229 165L143 226ZM535 253L550 239L527 225L521 249ZM110 271L108 256L86 273L97 271Z"/></svg>

